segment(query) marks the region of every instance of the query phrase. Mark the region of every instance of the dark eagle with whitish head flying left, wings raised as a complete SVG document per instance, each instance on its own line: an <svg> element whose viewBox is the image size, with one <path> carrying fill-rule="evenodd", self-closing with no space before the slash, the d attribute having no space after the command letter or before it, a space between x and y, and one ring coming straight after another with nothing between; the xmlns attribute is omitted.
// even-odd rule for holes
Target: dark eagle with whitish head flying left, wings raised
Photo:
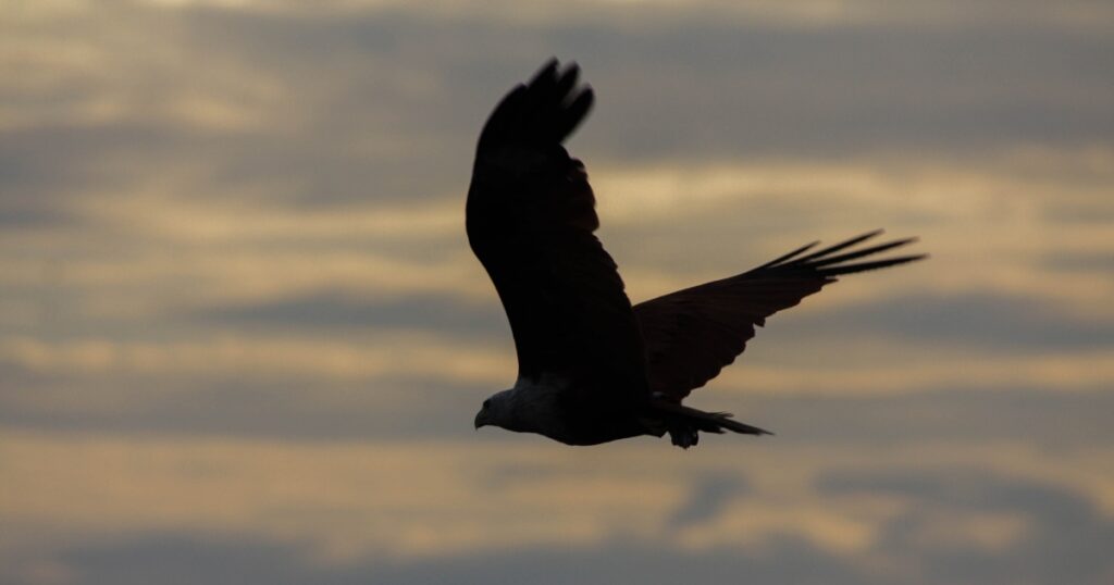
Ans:
<svg viewBox="0 0 1114 585"><path fill-rule="evenodd" d="M874 256L915 238L862 245L881 231L631 304L594 232L595 195L563 143L592 108L579 68L548 61L491 113L476 147L466 231L506 310L518 377L483 401L477 429L535 432L587 446L700 432L770 435L683 400L743 352L754 328L837 276L925 257Z"/></svg>

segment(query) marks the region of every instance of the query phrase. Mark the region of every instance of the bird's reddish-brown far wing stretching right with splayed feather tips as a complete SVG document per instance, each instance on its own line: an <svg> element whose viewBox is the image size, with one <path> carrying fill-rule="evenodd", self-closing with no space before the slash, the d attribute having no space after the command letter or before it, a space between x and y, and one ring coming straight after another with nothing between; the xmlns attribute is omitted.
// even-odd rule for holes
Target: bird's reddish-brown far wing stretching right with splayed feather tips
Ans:
<svg viewBox="0 0 1114 585"><path fill-rule="evenodd" d="M754 337L755 325L765 324L765 318L836 282L836 276L925 257L909 255L859 262L913 238L843 252L880 233L881 230L805 254L818 244L813 242L749 272L635 305L646 345L651 391L680 401L735 361Z"/></svg>

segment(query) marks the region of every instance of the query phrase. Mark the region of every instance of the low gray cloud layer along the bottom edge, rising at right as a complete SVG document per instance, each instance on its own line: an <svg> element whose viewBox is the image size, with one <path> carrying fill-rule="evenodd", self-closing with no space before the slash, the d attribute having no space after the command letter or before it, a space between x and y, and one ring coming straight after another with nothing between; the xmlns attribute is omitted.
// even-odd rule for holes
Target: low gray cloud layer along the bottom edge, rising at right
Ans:
<svg viewBox="0 0 1114 585"><path fill-rule="evenodd" d="M801 584L929 584L1018 582L1100 585L1114 572L1108 547L1114 523L1078 496L1039 482L986 472L948 477L896 470L857 472L821 480L831 495L889 494L909 498L917 511L887 523L877 554L891 563L872 566L818 549L793 537L760 550L719 548L681 553L638 543L600 543L512 554L486 554L419 563L354 563L322 567L286 545L227 537L197 539L165 534L86 544L66 550L59 564L81 583L619 583L672 584L705 579ZM701 491L697 495L703 495ZM926 537L939 515L987 511L1028 521L1019 540L1001 548L950 546ZM9 572L21 568L10 566ZM916 571L909 571L916 568ZM2 574L0 574L2 575ZM9 575L12 577L12 575ZM18 577L16 577L18 578Z"/></svg>

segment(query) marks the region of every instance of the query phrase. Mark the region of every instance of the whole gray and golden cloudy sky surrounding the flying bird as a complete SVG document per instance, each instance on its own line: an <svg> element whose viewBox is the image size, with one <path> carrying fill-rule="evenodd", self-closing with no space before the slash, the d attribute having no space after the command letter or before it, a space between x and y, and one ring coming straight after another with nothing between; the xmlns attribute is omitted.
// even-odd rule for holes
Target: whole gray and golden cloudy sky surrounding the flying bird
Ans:
<svg viewBox="0 0 1114 585"><path fill-rule="evenodd" d="M0 6L0 582L1114 582L1110 2ZM551 56L633 301L931 255L690 399L776 436L473 430L475 140Z"/></svg>

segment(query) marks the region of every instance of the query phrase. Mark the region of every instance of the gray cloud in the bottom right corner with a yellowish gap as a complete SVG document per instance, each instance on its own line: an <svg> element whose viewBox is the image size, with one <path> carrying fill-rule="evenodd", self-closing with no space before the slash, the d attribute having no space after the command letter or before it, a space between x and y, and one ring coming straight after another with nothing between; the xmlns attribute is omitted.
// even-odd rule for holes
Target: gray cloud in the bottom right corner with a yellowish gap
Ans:
<svg viewBox="0 0 1114 585"><path fill-rule="evenodd" d="M1037 579L1102 583L1114 521L1084 497L1055 486L970 471L832 474L830 494L889 494L915 504L893 518L880 548L910 557L931 583ZM925 552L921 554L915 550Z"/></svg>

